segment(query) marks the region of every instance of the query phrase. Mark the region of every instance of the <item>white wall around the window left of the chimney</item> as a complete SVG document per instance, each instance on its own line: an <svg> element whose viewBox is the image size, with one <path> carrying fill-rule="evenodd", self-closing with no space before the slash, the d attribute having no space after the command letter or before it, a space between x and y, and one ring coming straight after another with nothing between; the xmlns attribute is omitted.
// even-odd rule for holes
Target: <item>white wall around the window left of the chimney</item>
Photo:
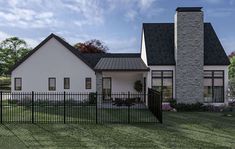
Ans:
<svg viewBox="0 0 235 149"><path fill-rule="evenodd" d="M152 87L152 71L153 70L172 70L173 71L173 98L175 98L175 66L149 66L150 71L146 78L147 88Z"/></svg>

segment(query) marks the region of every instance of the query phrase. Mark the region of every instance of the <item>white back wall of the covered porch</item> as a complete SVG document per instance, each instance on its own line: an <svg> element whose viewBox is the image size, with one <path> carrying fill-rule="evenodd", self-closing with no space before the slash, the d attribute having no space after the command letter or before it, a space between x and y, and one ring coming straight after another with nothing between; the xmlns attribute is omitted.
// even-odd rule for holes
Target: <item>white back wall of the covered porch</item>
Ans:
<svg viewBox="0 0 235 149"><path fill-rule="evenodd" d="M143 72L103 72L103 77L111 77L112 88L115 92L137 93L134 89L134 83L141 80L143 83Z"/></svg>

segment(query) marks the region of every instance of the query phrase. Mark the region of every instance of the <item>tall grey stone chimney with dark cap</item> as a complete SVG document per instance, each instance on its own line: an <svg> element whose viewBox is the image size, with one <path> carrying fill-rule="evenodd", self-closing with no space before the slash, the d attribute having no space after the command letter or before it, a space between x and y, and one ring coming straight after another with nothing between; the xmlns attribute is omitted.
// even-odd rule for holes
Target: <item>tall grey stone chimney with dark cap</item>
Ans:
<svg viewBox="0 0 235 149"><path fill-rule="evenodd" d="M179 103L203 102L204 22L201 9L176 9L175 93Z"/></svg>

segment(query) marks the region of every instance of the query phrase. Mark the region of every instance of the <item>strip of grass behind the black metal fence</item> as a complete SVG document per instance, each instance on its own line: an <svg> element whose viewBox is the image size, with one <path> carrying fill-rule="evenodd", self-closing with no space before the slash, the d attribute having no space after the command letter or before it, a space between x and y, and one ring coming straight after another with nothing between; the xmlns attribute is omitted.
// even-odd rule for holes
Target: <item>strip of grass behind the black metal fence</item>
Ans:
<svg viewBox="0 0 235 149"><path fill-rule="evenodd" d="M96 106L66 106L65 120L68 123L96 123ZM3 101L3 122L32 122L32 107L18 106ZM63 106L34 106L36 123L63 123ZM98 123L128 123L128 109L101 108L97 109ZM156 117L148 109L130 108L129 121L157 122Z"/></svg>

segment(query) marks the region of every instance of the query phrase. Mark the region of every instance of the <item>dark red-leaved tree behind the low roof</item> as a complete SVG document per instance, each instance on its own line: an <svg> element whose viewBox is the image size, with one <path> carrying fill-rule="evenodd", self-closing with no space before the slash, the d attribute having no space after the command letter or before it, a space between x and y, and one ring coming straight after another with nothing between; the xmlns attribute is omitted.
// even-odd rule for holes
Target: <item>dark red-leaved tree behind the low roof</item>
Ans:
<svg viewBox="0 0 235 149"><path fill-rule="evenodd" d="M106 53L109 49L103 42L97 39L92 39L84 43L74 45L82 53Z"/></svg>

